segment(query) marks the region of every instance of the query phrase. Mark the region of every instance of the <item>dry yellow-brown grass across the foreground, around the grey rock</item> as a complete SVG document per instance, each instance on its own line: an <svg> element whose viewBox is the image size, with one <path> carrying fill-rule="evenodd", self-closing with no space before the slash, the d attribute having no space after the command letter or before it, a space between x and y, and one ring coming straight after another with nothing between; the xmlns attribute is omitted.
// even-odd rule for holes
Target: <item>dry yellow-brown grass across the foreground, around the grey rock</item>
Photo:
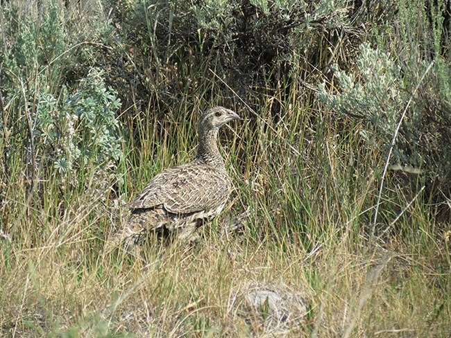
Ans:
<svg viewBox="0 0 451 338"><path fill-rule="evenodd" d="M194 247L148 248L144 260L130 260L83 253L83 240L8 254L1 265L3 335L272 337L277 331L265 324L265 310L246 303L259 283L288 285L305 297L305 319L284 337L450 333L445 276L405 245L371 253L323 242L310 252L297 245L281 251L270 239L225 240L205 228Z"/></svg>

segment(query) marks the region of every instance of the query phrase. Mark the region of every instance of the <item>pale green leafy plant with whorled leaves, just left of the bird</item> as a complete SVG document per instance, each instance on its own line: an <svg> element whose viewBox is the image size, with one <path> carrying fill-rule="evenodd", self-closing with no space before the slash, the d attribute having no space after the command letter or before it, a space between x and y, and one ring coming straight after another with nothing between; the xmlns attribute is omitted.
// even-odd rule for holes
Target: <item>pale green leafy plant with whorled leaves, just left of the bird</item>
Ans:
<svg viewBox="0 0 451 338"><path fill-rule="evenodd" d="M58 156L54 163L58 172L66 174L84 168L114 173L123 156L121 130L116 112L121 106L117 93L105 87L102 72L92 69L80 81L79 89L69 95L58 109L58 115L47 127L65 132L58 134Z"/></svg>

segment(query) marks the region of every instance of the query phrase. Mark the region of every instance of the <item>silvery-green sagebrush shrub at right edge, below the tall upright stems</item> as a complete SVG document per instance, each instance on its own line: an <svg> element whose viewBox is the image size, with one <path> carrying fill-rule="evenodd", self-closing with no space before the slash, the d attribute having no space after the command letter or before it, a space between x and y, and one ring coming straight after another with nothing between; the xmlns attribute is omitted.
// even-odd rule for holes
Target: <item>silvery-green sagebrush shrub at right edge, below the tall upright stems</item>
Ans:
<svg viewBox="0 0 451 338"><path fill-rule="evenodd" d="M402 121L393 145L391 163L405 167L406 172L418 173L420 171L412 170L411 167L421 168L423 177L427 177L430 183L428 191L436 198L443 198L442 192L449 191L451 184L451 134L446 127L451 121L451 111L446 100L434 107L436 98L444 96L441 96L443 85L434 87L434 84L443 81L443 77L447 77L445 81L451 80L450 75L445 76L443 72L443 68L448 66L441 60L424 82L418 83L419 79L413 82L410 68L403 69L384 51L371 48L367 43L361 45L355 63L357 69L354 73L339 71L336 65L332 66L337 91L330 91L323 82L318 86L318 98L333 112L370 122L375 133L364 130L361 135L371 145L379 143L377 139L382 140L383 156L386 156L391 146L395 128L407 102L411 97L417 98L412 101ZM415 65L423 69L423 73L427 66L427 62ZM418 84L420 89L414 95ZM418 183L415 175L410 180L414 185Z"/></svg>

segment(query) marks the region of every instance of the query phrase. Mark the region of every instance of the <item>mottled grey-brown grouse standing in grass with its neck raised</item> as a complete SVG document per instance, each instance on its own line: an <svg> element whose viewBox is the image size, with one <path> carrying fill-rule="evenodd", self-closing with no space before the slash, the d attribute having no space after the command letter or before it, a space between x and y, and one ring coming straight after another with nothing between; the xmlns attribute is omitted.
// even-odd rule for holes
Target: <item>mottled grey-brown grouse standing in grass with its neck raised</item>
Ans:
<svg viewBox="0 0 451 338"><path fill-rule="evenodd" d="M149 231L192 240L203 222L219 215L232 191L232 181L219 153L218 130L239 119L237 113L223 107L202 114L196 158L153 177L129 204L130 218L114 242L130 249L140 244Z"/></svg>

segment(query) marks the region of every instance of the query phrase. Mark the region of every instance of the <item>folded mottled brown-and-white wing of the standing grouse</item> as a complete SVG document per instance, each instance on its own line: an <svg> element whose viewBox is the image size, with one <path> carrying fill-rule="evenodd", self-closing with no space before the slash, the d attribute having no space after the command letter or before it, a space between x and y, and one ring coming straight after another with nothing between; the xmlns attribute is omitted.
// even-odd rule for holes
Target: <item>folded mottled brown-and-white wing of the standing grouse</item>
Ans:
<svg viewBox="0 0 451 338"><path fill-rule="evenodd" d="M129 206L137 209L163 205L170 213L194 213L223 204L230 190L226 172L210 166L178 166L155 175Z"/></svg>

